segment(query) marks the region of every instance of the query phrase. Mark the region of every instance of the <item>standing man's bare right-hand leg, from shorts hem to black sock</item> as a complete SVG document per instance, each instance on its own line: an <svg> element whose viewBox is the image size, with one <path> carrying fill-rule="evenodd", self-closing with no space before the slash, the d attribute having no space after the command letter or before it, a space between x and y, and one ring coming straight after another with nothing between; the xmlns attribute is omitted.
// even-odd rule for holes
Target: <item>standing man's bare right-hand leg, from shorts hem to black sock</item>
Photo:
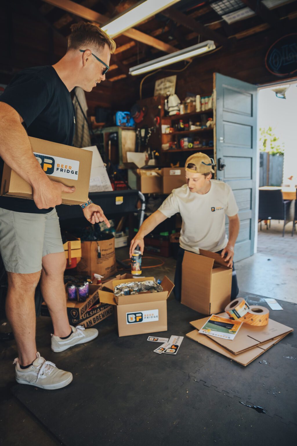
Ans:
<svg viewBox="0 0 297 446"><path fill-rule="evenodd" d="M71 332L67 316L64 270L64 252L42 257L41 293L49 309L53 322L54 335L63 338Z"/></svg>

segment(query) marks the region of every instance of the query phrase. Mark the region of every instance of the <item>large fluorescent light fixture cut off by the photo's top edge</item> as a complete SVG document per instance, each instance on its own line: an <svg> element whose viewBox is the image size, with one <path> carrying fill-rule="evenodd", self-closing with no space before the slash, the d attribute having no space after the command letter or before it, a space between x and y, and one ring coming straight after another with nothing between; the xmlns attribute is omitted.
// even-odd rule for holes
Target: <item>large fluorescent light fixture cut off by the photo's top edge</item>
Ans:
<svg viewBox="0 0 297 446"><path fill-rule="evenodd" d="M154 16L163 9L169 8L179 0L145 0L124 11L118 17L101 27L110 37L122 34L126 29Z"/></svg>

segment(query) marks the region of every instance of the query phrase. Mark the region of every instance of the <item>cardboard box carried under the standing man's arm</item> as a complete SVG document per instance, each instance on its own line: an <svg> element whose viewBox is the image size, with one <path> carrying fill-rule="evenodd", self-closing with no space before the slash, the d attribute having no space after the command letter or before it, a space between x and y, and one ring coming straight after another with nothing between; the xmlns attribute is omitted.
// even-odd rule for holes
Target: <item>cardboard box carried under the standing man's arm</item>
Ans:
<svg viewBox="0 0 297 446"><path fill-rule="evenodd" d="M92 152L29 136L34 155L48 177L65 186L75 186L71 194L62 193L63 204L81 204L88 200ZM4 163L1 195L33 199L32 187Z"/></svg>

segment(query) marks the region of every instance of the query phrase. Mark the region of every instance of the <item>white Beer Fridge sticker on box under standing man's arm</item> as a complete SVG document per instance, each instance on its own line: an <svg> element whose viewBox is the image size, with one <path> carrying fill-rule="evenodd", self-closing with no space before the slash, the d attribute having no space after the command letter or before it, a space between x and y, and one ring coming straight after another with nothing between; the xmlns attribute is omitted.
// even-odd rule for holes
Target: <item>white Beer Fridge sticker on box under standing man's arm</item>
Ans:
<svg viewBox="0 0 297 446"><path fill-rule="evenodd" d="M50 157L43 153L33 152L43 171L51 176L78 180L79 161L68 158Z"/></svg>

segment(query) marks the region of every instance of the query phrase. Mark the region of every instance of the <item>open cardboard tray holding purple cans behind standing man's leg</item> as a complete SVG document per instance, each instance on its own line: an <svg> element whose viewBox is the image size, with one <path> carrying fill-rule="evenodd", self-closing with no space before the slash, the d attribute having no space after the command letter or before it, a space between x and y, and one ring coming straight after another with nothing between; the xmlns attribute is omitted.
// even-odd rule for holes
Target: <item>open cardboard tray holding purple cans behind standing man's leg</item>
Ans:
<svg viewBox="0 0 297 446"><path fill-rule="evenodd" d="M65 299L67 306L67 315L69 320L73 319L75 321L79 321L83 315L90 310L90 308L99 301L99 289L101 289L101 285L89 285L89 297L85 302L77 302L77 301L69 301L67 296L67 285L65 285ZM41 315L49 316L49 310L47 309L46 303L43 302L41 305Z"/></svg>

